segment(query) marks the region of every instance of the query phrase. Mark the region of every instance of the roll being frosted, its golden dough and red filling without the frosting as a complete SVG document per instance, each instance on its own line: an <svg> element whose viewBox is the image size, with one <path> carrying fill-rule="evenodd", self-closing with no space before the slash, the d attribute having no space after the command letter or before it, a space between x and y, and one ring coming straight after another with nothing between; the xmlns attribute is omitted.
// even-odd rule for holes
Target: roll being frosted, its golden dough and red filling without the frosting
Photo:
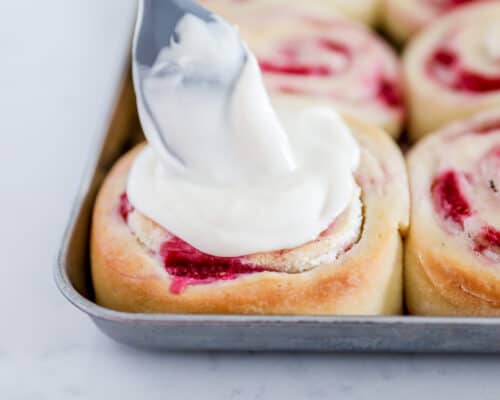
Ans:
<svg viewBox="0 0 500 400"><path fill-rule="evenodd" d="M382 131L348 122L362 150L357 200L316 240L245 257L204 254L135 210L125 193L139 149L126 154L106 178L94 209L97 302L148 313L400 313L401 231L409 201L404 162Z"/></svg>

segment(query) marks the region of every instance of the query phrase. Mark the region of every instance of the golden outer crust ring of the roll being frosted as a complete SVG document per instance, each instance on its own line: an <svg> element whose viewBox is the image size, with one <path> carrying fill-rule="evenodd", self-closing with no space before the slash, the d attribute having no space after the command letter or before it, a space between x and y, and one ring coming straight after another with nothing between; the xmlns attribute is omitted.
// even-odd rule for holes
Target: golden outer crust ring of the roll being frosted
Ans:
<svg viewBox="0 0 500 400"><path fill-rule="evenodd" d="M121 217L119 198L139 148L113 167L98 194L91 232L97 302L128 312L217 314L398 314L402 241L408 223L401 153L378 129L349 119L362 147L357 180L364 224L359 241L335 262L301 273L258 272L172 293L161 259L146 251ZM391 204L391 207L387 207Z"/></svg>

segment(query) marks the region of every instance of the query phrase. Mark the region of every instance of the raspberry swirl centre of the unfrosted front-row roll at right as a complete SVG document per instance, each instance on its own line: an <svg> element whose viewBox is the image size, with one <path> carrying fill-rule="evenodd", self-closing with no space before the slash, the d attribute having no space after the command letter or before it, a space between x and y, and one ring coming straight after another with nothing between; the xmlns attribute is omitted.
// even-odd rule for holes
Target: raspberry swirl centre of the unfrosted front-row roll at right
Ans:
<svg viewBox="0 0 500 400"><path fill-rule="evenodd" d="M450 157L439 166L431 193L443 229L500 263L500 120L495 122L487 133L468 127L469 132L447 142ZM476 151L464 157L460 148L468 145Z"/></svg>

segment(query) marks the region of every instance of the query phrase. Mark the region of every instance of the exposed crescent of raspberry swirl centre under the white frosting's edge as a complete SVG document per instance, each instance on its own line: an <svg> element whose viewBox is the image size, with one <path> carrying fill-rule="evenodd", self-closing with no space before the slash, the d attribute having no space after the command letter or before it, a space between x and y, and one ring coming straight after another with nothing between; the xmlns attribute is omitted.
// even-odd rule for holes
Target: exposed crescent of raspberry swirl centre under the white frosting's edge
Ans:
<svg viewBox="0 0 500 400"><path fill-rule="evenodd" d="M356 243L362 224L358 192L349 208L310 243L269 253L217 257L199 251L147 219L131 205L126 193L120 195L117 211L144 249L161 260L171 277L173 294L181 294L193 285L231 281L264 271L299 273L321 263L334 262Z"/></svg>

